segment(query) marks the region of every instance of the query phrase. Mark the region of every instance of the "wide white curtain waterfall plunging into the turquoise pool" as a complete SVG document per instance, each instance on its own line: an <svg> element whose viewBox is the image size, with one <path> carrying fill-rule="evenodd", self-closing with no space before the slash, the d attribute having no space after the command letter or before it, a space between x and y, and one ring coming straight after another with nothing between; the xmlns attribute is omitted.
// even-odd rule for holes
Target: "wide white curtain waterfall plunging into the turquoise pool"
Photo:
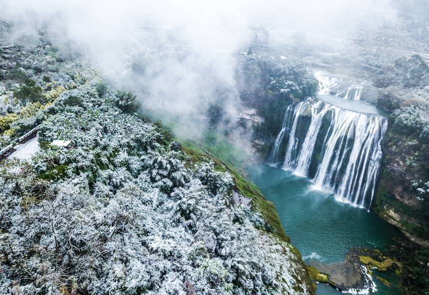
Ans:
<svg viewBox="0 0 429 295"><path fill-rule="evenodd" d="M308 99L286 110L268 162L312 179L338 201L369 208L387 119Z"/></svg>

